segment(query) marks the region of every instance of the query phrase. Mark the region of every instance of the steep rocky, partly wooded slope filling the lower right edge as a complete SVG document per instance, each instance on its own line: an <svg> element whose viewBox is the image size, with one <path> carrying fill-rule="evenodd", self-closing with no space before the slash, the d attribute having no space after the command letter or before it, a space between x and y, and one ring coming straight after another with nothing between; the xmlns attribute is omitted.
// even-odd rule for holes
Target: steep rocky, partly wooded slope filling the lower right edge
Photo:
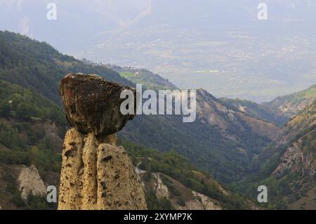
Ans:
<svg viewBox="0 0 316 224"><path fill-rule="evenodd" d="M298 200L301 204L308 201L309 209L316 208L315 200L306 198L315 188L316 100L282 128L279 138L259 155L256 166L254 182L237 188L247 186L246 193L255 198L251 189L266 185L269 204L276 209L304 209Z"/></svg>

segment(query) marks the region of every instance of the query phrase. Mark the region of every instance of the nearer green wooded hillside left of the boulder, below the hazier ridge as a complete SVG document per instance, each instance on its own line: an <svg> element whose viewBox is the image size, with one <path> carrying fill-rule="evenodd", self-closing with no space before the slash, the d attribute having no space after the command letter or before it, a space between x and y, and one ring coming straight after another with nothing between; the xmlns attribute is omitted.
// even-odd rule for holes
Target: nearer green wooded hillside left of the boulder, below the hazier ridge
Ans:
<svg viewBox="0 0 316 224"><path fill-rule="evenodd" d="M62 110L34 89L0 79L0 162L59 171L67 121Z"/></svg>

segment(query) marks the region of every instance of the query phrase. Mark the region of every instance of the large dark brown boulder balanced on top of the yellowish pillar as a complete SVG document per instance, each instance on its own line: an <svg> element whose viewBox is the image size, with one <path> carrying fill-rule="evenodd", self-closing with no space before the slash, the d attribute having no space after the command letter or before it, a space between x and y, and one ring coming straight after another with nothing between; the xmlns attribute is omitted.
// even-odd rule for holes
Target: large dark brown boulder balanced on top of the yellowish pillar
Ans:
<svg viewBox="0 0 316 224"><path fill-rule="evenodd" d="M60 95L70 125L97 137L120 131L133 114L121 114L121 92L136 90L98 77L96 74L67 74L60 82ZM136 99L136 98L135 98ZM136 103L135 103L136 105Z"/></svg>

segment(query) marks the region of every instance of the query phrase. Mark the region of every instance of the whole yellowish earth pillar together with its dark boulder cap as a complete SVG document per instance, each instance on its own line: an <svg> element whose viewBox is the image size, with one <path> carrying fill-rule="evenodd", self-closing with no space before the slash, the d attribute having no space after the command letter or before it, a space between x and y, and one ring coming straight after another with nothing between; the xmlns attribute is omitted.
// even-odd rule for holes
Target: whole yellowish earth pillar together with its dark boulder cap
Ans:
<svg viewBox="0 0 316 224"><path fill-rule="evenodd" d="M75 128L64 140L58 209L147 209L136 169L113 134L133 119L119 112L124 89L96 75L62 79L60 95Z"/></svg>

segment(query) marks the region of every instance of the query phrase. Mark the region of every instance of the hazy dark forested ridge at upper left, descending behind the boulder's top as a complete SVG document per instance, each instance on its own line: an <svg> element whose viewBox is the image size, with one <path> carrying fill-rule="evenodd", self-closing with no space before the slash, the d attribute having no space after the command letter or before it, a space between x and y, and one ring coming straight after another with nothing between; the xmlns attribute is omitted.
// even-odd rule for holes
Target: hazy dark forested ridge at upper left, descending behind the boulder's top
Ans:
<svg viewBox="0 0 316 224"><path fill-rule="evenodd" d="M58 82L65 74L76 72L99 74L110 81L133 85L113 70L101 65L86 65L71 56L62 55L45 42L0 31L0 79L34 88L59 103Z"/></svg>

